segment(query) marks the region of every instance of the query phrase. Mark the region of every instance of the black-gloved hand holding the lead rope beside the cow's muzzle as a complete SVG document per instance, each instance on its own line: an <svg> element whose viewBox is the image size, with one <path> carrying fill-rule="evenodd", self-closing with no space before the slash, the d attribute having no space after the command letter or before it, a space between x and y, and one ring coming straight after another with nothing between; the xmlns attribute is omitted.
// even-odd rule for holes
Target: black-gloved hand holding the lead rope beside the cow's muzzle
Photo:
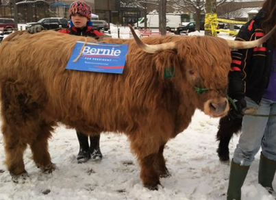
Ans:
<svg viewBox="0 0 276 200"><path fill-rule="evenodd" d="M235 103L235 105L233 105ZM233 99L230 102L230 110L228 112L228 116L230 119L242 118L244 116L244 108L247 108L247 101L244 98L241 99Z"/></svg>

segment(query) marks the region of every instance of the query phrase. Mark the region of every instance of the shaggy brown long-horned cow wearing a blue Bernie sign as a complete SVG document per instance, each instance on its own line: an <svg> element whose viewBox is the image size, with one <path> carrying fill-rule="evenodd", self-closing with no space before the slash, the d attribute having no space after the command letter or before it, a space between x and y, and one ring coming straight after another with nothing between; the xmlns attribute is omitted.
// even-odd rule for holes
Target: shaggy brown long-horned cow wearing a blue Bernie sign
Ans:
<svg viewBox="0 0 276 200"><path fill-rule="evenodd" d="M164 146L188 127L195 110L214 117L227 114L232 41L207 36L143 38L154 45L150 46L135 37L144 51L134 40L101 41L129 45L122 75L65 68L77 40L86 38L52 31L15 32L5 38L0 47L2 134L5 163L15 182L27 173L27 145L42 171L54 169L47 139L61 122L88 135L125 133L143 184L157 189L159 177L169 175ZM166 71L174 76L166 78ZM195 88L208 90L199 94Z"/></svg>

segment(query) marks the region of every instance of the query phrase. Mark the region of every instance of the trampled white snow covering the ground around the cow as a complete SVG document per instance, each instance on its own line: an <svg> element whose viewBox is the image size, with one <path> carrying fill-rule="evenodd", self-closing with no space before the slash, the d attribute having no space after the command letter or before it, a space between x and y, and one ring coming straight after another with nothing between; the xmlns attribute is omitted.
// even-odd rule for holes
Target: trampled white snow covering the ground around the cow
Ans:
<svg viewBox="0 0 276 200"><path fill-rule="evenodd" d="M118 36L118 28L121 38L129 38L128 27L112 25L113 37ZM221 36L227 38L227 34ZM127 137L123 134L101 134L103 160L89 160L84 164L77 164L79 144L75 130L60 125L49 140L52 162L57 169L51 174L42 173L36 168L32 161L32 153L27 148L24 160L29 177L24 184L14 184L11 181L4 164L3 136L0 134L0 200L226 199L229 164L219 162L216 154L217 126L218 118L210 118L199 110L195 112L190 126L176 138L168 141L164 156L171 177L160 179L162 186L154 191L142 186L139 177L140 167L129 150ZM238 136L234 136L229 145L230 158L237 142ZM242 199L274 199L258 184L259 158L260 152L255 156L245 179Z"/></svg>

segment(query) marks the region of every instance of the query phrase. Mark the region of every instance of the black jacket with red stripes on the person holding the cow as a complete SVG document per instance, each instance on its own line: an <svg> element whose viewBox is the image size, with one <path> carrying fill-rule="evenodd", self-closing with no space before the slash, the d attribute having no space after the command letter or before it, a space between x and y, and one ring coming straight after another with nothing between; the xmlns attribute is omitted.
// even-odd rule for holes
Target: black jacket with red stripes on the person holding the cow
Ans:
<svg viewBox="0 0 276 200"><path fill-rule="evenodd" d="M249 41L264 36L264 29L261 27L263 19L264 12L260 10L255 18L242 26L236 40ZM233 99L247 96L259 104L268 86L272 57L272 38L253 49L231 51L229 96Z"/></svg>

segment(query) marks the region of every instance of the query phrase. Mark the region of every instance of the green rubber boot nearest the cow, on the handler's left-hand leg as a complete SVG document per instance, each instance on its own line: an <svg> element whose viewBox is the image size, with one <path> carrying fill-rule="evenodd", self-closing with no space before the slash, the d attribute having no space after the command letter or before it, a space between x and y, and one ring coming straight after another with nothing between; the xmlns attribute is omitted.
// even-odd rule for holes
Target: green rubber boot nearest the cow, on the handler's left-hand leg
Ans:
<svg viewBox="0 0 276 200"><path fill-rule="evenodd" d="M240 197L242 196L241 188L245 177L247 177L248 170L249 166L240 166L232 160L227 190L227 200L240 200Z"/></svg>

